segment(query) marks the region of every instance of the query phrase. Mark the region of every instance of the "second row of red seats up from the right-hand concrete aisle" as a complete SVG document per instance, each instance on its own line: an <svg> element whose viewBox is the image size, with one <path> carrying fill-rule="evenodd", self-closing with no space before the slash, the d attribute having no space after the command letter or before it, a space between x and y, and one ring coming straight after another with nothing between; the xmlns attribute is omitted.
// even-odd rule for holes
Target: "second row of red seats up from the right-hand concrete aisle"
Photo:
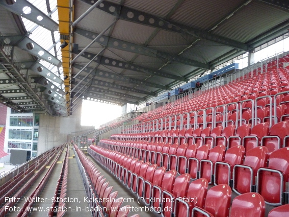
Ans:
<svg viewBox="0 0 289 217"><path fill-rule="evenodd" d="M155 147L153 151L152 147ZM178 146L178 143L171 145L151 142L145 147L133 149L130 153L123 149L124 153L114 151L111 154L119 160L124 160L125 156L132 156L157 166L165 166L168 170L177 170L178 174L189 173L192 179L206 178L210 184L226 183L238 194L262 191L264 193L261 195L266 195L264 197L268 204L280 205L288 201L285 191L285 183L289 178L288 147L274 151L270 158L266 147L256 147L246 153L244 161L243 146L234 146L227 152L222 145L210 148L208 144L198 148L197 144L188 146L187 143L183 143ZM267 189L272 181L266 176L268 170L273 174L276 188ZM255 176L258 177L257 180Z"/></svg>

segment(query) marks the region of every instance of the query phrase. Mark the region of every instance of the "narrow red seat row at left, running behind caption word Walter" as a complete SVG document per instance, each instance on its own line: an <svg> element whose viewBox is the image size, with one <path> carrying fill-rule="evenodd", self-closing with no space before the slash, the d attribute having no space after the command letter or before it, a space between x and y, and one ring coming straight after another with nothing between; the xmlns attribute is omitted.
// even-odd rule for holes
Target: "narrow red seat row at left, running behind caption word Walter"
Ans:
<svg viewBox="0 0 289 217"><path fill-rule="evenodd" d="M31 208L36 204L37 198L39 198L39 196L41 195L41 192L43 191L52 171L54 170L58 159L62 153L62 151L64 150L64 148L67 146L67 144L63 144L61 146L61 149L59 150L56 159L54 160L54 162L51 164L51 166L49 167L48 171L46 172L46 174L44 175L44 177L41 179L41 181L39 182L39 184L37 185L37 187L34 189L34 191L32 192L32 194L28 197L28 200L24 203L24 205L21 208L21 211L18 212L16 217L27 217L31 214L32 210ZM68 149L66 149L67 152ZM45 167L48 165L45 164L43 166L43 168L45 169Z"/></svg>

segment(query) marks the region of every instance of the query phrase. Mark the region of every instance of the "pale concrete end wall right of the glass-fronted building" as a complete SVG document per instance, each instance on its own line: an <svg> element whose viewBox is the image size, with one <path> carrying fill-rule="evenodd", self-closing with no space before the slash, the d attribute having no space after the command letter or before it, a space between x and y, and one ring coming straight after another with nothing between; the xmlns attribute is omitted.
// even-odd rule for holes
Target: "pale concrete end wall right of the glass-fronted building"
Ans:
<svg viewBox="0 0 289 217"><path fill-rule="evenodd" d="M81 126L81 110L78 107L69 117L40 115L37 155L69 141L72 132L92 128Z"/></svg>

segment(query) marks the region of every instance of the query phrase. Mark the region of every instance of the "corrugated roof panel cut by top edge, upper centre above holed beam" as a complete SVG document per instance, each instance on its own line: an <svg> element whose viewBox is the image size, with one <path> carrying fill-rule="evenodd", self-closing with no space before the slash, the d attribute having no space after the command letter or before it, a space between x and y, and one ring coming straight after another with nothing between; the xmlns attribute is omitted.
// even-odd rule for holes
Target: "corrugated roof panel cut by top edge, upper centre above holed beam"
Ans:
<svg viewBox="0 0 289 217"><path fill-rule="evenodd" d="M165 18L178 0L126 0L124 6Z"/></svg>

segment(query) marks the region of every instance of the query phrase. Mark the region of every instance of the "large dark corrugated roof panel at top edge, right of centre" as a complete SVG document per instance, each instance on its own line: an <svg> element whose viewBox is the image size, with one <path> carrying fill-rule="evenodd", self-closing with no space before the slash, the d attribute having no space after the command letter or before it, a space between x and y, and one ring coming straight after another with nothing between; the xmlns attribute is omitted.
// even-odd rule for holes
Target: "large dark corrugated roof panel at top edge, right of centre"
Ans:
<svg viewBox="0 0 289 217"><path fill-rule="evenodd" d="M242 4L244 0L186 0L170 20L208 31Z"/></svg>

